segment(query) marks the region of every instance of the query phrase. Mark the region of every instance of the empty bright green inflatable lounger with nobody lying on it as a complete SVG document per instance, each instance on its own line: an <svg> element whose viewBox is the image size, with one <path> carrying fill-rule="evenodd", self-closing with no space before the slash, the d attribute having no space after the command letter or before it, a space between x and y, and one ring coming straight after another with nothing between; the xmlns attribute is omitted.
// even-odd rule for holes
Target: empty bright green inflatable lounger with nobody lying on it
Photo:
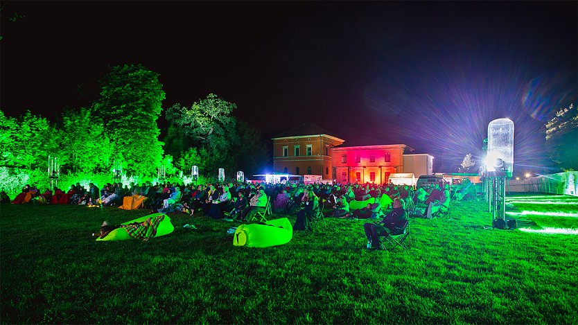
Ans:
<svg viewBox="0 0 578 325"><path fill-rule="evenodd" d="M289 243L293 226L288 218L265 222L265 225L240 225L233 235L233 245L247 247L270 247Z"/></svg>

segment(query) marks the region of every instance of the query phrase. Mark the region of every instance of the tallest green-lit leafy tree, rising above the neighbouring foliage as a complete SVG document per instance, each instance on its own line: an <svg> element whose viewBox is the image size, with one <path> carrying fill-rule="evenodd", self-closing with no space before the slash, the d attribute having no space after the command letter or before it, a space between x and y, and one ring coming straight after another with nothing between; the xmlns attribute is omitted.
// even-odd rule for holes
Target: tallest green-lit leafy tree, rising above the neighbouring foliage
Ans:
<svg viewBox="0 0 578 325"><path fill-rule="evenodd" d="M112 67L101 84L92 108L113 143L113 157L123 157L128 172L154 174L163 157L157 118L165 93L159 74L125 64Z"/></svg>

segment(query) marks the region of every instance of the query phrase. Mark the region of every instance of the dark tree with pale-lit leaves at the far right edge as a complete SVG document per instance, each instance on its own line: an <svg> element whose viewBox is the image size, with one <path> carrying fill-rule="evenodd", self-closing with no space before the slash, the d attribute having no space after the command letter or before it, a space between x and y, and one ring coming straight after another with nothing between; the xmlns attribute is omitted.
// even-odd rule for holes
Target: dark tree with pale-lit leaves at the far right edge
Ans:
<svg viewBox="0 0 578 325"><path fill-rule="evenodd" d="M565 170L578 170L578 109L572 104L560 109L545 128L550 159Z"/></svg>

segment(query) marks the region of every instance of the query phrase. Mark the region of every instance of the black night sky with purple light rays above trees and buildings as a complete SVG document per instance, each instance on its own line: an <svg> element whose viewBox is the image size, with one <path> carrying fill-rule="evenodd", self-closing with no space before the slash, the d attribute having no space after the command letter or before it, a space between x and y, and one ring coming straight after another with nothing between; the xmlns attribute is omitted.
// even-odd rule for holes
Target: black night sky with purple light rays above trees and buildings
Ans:
<svg viewBox="0 0 578 325"><path fill-rule="evenodd" d="M578 104L577 1L2 3L10 116L88 105L108 67L141 63L165 108L214 93L266 137L313 121L345 145L428 152L437 171L481 160L508 117L522 173L551 165L541 127Z"/></svg>

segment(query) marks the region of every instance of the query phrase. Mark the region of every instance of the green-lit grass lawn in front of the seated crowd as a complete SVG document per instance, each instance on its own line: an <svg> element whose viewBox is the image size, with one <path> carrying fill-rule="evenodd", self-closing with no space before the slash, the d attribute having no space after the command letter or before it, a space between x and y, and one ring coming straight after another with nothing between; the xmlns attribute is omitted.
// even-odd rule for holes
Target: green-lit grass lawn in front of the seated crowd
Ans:
<svg viewBox="0 0 578 325"><path fill-rule="evenodd" d="M576 204L510 200L539 227L578 229ZM409 251L368 252L361 220L263 249L234 247L231 223L206 217L170 215L173 234L148 242L96 242L103 220L148 211L3 205L0 322L577 324L578 236L484 229L484 207L412 218Z"/></svg>

